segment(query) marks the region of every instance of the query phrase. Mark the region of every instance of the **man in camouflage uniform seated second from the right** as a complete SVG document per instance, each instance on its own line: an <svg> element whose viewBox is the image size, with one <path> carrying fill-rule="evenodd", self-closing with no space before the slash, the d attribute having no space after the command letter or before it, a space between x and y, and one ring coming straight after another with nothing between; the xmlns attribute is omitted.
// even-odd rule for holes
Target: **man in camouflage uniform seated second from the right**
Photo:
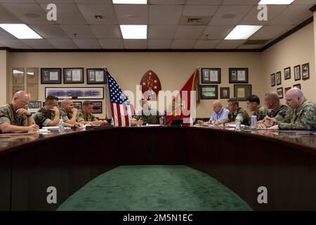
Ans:
<svg viewBox="0 0 316 225"><path fill-rule="evenodd" d="M258 127L267 127L270 121L278 122L281 121L287 114L289 107L287 105L282 105L279 101L279 96L271 91L265 94L265 106L268 108L268 115L263 119L262 123L258 122Z"/></svg>

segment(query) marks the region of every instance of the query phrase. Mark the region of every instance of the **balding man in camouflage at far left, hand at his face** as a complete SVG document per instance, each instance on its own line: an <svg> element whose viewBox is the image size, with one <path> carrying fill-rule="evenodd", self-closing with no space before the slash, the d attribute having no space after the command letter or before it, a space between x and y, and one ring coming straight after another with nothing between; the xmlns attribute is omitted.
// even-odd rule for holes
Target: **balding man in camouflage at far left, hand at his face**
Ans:
<svg viewBox="0 0 316 225"><path fill-rule="evenodd" d="M26 110L29 100L28 94L24 91L18 91L14 94L10 104L0 107L0 130L2 133L39 130L32 113Z"/></svg>

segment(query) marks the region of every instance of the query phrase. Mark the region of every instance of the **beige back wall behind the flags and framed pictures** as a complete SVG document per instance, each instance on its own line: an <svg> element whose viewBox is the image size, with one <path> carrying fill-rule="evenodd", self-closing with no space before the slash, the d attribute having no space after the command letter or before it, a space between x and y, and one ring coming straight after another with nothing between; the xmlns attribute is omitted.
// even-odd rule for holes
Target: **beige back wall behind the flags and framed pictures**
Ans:
<svg viewBox="0 0 316 225"><path fill-rule="evenodd" d="M234 95L234 85L228 84L228 68L249 68L249 84L252 84L253 93L259 96L263 96L264 93L261 84L263 77L261 53L11 53L10 57L10 68L83 67L86 74L86 68L100 68L103 65L106 65L122 89L134 93L136 85L140 84L140 79L147 70L153 70L158 75L163 90L174 91L182 88L197 66L221 68L222 83L218 85L218 90L220 86L229 86L230 96ZM54 85L39 84L39 101L44 101L45 86ZM62 86L86 86L86 84L62 84ZM197 106L197 117L209 117L213 111L212 102L202 100ZM223 100L223 104L226 105L226 100ZM244 102L241 105L246 108ZM105 117L105 113L99 116Z"/></svg>

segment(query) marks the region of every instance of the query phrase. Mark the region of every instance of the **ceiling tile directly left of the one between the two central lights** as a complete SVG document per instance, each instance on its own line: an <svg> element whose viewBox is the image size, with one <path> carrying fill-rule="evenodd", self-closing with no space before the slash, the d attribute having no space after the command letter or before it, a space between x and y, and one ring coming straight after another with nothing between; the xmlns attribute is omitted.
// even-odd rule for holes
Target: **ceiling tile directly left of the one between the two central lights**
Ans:
<svg viewBox="0 0 316 225"><path fill-rule="evenodd" d="M81 11L86 22L93 25L114 25L117 24L117 16L115 15L113 5L105 4L78 4L79 11ZM103 19L98 21L95 15L102 15Z"/></svg>

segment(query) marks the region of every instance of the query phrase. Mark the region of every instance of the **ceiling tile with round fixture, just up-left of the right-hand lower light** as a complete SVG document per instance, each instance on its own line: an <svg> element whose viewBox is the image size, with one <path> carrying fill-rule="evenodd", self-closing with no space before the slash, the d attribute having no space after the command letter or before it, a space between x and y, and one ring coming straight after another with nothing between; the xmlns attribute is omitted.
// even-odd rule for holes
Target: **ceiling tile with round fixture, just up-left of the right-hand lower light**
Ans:
<svg viewBox="0 0 316 225"><path fill-rule="evenodd" d="M237 25L253 6L220 6L209 25ZM235 15L234 18L223 18L225 15Z"/></svg>

